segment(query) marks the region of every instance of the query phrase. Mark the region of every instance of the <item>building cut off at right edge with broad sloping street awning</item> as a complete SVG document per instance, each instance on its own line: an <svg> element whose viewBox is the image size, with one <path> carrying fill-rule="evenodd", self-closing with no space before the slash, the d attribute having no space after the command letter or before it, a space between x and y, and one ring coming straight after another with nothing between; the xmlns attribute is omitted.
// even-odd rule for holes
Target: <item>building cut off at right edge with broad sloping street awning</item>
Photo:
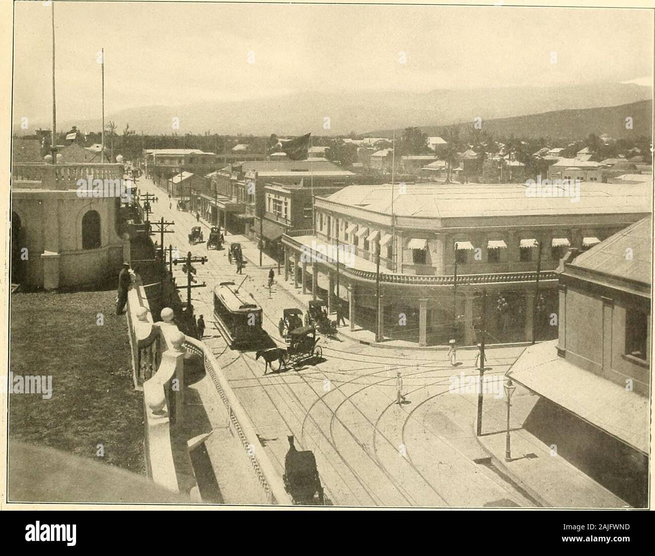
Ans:
<svg viewBox="0 0 655 556"><path fill-rule="evenodd" d="M635 507L648 502L651 267L652 217L571 250L558 270L558 339L508 372L539 396L524 428Z"/></svg>

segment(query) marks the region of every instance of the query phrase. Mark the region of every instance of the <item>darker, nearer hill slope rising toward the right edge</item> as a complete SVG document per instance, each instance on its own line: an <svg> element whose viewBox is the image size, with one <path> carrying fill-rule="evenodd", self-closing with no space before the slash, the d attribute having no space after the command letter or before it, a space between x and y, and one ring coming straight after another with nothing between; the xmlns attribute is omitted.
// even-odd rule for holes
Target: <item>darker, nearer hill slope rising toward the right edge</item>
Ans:
<svg viewBox="0 0 655 556"><path fill-rule="evenodd" d="M626 128L626 118L632 119L632 128ZM589 134L608 134L615 139L652 136L652 100L640 100L620 106L555 110L528 116L483 120L483 130L495 137L510 136L538 139L551 137L580 139ZM472 128L473 122L458 124L460 128ZM428 136L443 136L447 126L421 126ZM402 130L396 130L402 133ZM374 132L373 137L391 137L393 130Z"/></svg>

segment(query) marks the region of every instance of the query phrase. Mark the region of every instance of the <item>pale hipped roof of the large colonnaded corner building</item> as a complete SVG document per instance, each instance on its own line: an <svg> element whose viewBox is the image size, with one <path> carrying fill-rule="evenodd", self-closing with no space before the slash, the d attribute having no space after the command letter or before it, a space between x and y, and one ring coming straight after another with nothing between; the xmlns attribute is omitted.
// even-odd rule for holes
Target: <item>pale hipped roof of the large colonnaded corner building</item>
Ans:
<svg viewBox="0 0 655 556"><path fill-rule="evenodd" d="M576 215L650 212L651 183L618 188L599 182L580 183L580 196L529 196L525 184L407 184L350 185L327 200L346 206L390 214L392 189L394 213L423 218L503 217L521 215Z"/></svg>

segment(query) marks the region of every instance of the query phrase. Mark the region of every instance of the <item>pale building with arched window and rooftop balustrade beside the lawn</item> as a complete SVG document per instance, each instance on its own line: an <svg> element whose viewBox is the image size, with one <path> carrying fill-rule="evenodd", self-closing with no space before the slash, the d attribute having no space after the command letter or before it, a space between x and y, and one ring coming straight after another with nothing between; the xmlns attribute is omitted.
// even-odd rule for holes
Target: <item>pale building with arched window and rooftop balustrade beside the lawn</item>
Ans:
<svg viewBox="0 0 655 556"><path fill-rule="evenodd" d="M58 289L115 280L130 250L122 177L122 164L14 164L12 283ZM102 196L81 196L80 179L94 187L102 180Z"/></svg>

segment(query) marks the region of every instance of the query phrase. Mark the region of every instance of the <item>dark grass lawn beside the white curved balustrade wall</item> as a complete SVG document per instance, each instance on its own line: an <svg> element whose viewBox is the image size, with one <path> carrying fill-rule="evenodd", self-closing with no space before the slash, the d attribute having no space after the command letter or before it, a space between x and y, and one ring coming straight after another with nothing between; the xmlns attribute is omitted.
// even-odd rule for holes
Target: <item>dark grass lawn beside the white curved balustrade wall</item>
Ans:
<svg viewBox="0 0 655 556"><path fill-rule="evenodd" d="M10 370L52 375L52 398L11 394L9 434L145 475L143 395L132 384L127 323L115 297L115 290L11 296Z"/></svg>

